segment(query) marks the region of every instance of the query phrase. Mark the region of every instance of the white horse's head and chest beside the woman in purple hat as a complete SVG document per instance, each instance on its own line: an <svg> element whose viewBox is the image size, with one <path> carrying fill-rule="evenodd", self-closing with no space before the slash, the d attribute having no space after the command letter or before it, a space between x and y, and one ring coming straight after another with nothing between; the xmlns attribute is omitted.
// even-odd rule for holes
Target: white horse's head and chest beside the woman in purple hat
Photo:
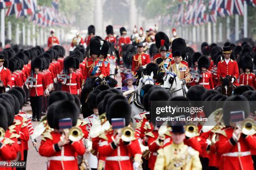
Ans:
<svg viewBox="0 0 256 170"><path fill-rule="evenodd" d="M139 80L139 84L136 90L134 90L130 97L128 98L128 101L130 102L131 105L131 119L133 122L133 125L135 125L135 119L134 116L138 115L139 113L143 112L144 107L141 104L141 87L143 85L151 84L154 85L155 81L153 79L154 73L151 72L150 75L144 75L143 72L141 73L141 79Z"/></svg>

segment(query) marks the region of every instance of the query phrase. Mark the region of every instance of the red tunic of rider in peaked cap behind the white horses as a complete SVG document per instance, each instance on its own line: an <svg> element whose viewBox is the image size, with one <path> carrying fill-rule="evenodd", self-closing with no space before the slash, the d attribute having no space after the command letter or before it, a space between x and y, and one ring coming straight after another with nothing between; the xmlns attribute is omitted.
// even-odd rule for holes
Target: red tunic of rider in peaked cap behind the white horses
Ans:
<svg viewBox="0 0 256 170"><path fill-rule="evenodd" d="M131 67L133 75L136 74L136 70L138 70L139 67L146 65L150 62L151 61L149 55L144 52L142 52L141 54L137 53L136 55L133 55L133 62Z"/></svg>

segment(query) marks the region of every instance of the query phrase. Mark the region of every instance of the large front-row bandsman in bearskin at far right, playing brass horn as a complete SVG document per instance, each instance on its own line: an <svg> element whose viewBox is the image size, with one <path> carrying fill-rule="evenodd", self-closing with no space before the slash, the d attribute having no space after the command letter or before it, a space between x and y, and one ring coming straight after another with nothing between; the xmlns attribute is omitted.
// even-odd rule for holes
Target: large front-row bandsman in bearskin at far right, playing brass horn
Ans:
<svg viewBox="0 0 256 170"><path fill-rule="evenodd" d="M234 102L239 101L239 104ZM233 113L235 112L235 113ZM253 170L250 150L256 149L256 138L251 130L244 130L245 122L250 114L250 104L246 97L234 95L228 97L223 105L223 120L226 126L222 134L218 134L217 151L221 154L220 170ZM243 120L245 119L245 120ZM254 124L255 121L252 120ZM241 128L239 128L240 124ZM253 135L254 134L254 135ZM217 137L216 137L217 138Z"/></svg>

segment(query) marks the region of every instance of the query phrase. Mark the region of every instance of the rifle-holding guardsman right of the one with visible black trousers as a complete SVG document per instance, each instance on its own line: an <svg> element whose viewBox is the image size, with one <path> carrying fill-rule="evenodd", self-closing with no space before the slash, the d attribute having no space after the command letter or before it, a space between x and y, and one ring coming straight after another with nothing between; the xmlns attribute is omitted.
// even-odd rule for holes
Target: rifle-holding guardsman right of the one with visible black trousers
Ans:
<svg viewBox="0 0 256 170"><path fill-rule="evenodd" d="M61 78L61 90L70 92L72 95L80 94L79 75L75 72L76 61L74 57L66 57L64 60L64 75Z"/></svg>

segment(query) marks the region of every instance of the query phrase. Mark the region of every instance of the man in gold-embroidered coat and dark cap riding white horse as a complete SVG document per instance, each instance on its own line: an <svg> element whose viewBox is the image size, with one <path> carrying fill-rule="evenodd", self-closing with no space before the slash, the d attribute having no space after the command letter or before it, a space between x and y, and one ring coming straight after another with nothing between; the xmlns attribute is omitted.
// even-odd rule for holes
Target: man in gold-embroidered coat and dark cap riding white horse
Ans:
<svg viewBox="0 0 256 170"><path fill-rule="evenodd" d="M174 64L168 66L168 70L170 70L170 68L172 67L172 71L179 77L179 80L181 81L182 84L186 84L187 82L190 82L191 75L189 73L189 69L187 65L184 65L181 62L182 60L181 52L178 50L174 51L173 58L175 62Z"/></svg>

